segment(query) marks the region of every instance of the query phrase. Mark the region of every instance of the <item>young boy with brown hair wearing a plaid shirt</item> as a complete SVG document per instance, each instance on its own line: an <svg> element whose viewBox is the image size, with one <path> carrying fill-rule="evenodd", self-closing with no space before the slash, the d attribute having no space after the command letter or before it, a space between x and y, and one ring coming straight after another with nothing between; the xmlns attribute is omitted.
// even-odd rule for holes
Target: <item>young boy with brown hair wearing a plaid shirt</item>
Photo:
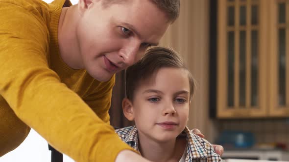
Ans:
<svg viewBox="0 0 289 162"><path fill-rule="evenodd" d="M155 47L126 70L125 117L135 126L117 129L121 140L153 162L220 162L206 140L186 127L195 83L181 58Z"/></svg>

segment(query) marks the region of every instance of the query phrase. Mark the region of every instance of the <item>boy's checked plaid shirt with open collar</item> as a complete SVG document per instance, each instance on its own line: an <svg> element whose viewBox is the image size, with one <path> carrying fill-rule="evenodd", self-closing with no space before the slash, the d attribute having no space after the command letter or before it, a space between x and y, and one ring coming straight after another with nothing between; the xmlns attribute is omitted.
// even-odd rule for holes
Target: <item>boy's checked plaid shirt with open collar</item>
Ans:
<svg viewBox="0 0 289 162"><path fill-rule="evenodd" d="M117 129L116 133L122 141L139 151L139 136L136 126ZM214 151L212 145L205 139L193 134L187 126L180 136L186 136L187 138L185 162L221 162L220 156Z"/></svg>

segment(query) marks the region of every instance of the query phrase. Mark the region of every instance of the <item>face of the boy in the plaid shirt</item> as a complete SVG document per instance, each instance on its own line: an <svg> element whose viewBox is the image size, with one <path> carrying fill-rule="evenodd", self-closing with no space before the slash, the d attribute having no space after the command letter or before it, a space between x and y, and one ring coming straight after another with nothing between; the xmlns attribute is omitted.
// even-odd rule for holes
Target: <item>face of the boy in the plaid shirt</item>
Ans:
<svg viewBox="0 0 289 162"><path fill-rule="evenodd" d="M141 81L130 102L140 138L175 140L188 122L189 92L188 71L182 68L161 68Z"/></svg>

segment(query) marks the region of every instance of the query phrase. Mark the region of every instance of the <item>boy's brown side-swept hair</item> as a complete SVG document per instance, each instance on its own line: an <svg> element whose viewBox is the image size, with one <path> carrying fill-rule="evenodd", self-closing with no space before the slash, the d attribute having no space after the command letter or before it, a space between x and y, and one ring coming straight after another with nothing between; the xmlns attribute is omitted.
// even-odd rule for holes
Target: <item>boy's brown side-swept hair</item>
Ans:
<svg viewBox="0 0 289 162"><path fill-rule="evenodd" d="M125 95L133 101L134 91L140 81L148 79L154 72L163 67L183 68L188 71L190 83L190 100L195 90L195 81L186 68L182 58L172 49L166 47L153 47L146 51L144 57L125 71Z"/></svg>

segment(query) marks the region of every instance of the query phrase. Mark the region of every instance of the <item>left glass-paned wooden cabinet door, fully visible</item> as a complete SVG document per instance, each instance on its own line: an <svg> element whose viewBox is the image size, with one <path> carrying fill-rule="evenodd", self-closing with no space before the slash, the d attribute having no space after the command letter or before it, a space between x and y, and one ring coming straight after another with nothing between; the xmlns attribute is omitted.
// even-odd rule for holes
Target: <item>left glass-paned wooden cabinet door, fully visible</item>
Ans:
<svg viewBox="0 0 289 162"><path fill-rule="evenodd" d="M219 0L217 117L265 116L262 0Z"/></svg>

